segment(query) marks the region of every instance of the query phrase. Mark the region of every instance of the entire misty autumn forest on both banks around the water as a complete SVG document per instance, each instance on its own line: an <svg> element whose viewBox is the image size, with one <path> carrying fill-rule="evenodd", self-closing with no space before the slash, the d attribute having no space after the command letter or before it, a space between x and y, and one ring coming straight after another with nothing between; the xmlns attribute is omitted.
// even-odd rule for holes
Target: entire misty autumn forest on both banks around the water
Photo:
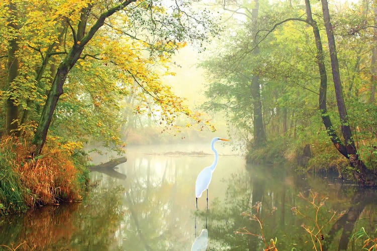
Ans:
<svg viewBox="0 0 377 251"><path fill-rule="evenodd" d="M0 12L0 214L82 201L92 152L224 125L247 163L377 186L374 1L7 0ZM176 94L196 86L174 82L187 47L206 74L200 104Z"/></svg>

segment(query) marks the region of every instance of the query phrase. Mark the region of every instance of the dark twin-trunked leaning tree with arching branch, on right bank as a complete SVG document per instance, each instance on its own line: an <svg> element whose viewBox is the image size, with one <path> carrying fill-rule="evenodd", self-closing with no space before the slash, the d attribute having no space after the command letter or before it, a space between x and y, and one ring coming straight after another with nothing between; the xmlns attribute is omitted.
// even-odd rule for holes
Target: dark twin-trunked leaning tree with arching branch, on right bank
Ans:
<svg viewBox="0 0 377 251"><path fill-rule="evenodd" d="M319 109L321 112L323 124L326 128L328 136L330 137L336 149L339 151L339 153L341 153L344 157L346 157L350 165L355 168L353 175L355 176L356 180L358 180L362 185L374 186L376 183L373 178L373 174L367 171L365 165L359 159L356 146L352 138L352 133L349 126L348 117L347 117L347 110L345 107L345 101L343 97L342 85L340 81L340 71L339 71L339 63L338 63L338 58L337 58L336 46L335 46L335 38L334 38L333 28L330 21L330 14L329 14L327 1L321 0L322 13L324 17L325 28L326 28L326 33L327 33L327 38L328 38L328 43L329 43L329 52L330 52L334 87L335 87L334 89L335 89L335 95L336 95L336 103L338 106L341 132L344 138L344 143L340 141L340 138L335 132L334 127L332 125L332 122L327 112L327 107L326 107L326 99L327 99L326 98L326 95L327 95L326 94L327 93L327 76L326 75L327 74L326 74L326 67L325 67L325 61L324 61L324 56L323 56L324 53L322 49L321 37L320 37L317 23L312 18L310 1L306 0L305 3L306 3L306 14L307 14L306 20L300 19L300 18L299 19L289 18L275 24L274 28L277 25L283 24L288 21L302 21L302 22L306 22L310 24L313 27L313 33L314 33L314 38L315 38L315 43L316 43L316 48L317 48L316 58L317 58L318 68L319 68L319 73L320 73Z"/></svg>

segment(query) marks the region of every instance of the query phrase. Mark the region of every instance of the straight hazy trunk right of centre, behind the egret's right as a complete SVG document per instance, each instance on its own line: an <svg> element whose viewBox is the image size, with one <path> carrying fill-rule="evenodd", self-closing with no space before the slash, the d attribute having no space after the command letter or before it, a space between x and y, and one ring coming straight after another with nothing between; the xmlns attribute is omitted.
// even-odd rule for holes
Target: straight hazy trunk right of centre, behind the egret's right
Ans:
<svg viewBox="0 0 377 251"><path fill-rule="evenodd" d="M252 21L252 34L255 36L258 30L258 0L254 1L255 5L251 11L251 21ZM256 41L253 41L253 45L256 45ZM253 55L259 54L259 48L255 47L253 50ZM260 96L260 83L259 83L259 76L257 72L253 73L253 77L251 79L250 91L252 95L252 104L253 104L253 126L254 126L254 146L255 148L261 147L266 142L266 135L263 126L263 115L262 115L262 101Z"/></svg>

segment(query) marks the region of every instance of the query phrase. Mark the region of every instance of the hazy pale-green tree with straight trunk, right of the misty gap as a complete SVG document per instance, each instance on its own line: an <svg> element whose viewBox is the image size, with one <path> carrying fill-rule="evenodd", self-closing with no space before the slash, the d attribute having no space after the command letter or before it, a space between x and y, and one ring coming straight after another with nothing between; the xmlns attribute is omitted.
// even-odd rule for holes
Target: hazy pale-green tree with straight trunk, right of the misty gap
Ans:
<svg viewBox="0 0 377 251"><path fill-rule="evenodd" d="M225 100L208 102L205 106L210 109L218 108L215 102L221 102L223 109L230 109L235 116L234 122L243 130L252 131L252 139L249 140L249 148L260 148L266 143L265 124L263 122L261 63L264 57L260 53L256 33L259 29L258 11L259 2L222 3L222 9L230 15L242 17L235 21L232 33L237 32L234 37L231 34L227 39L230 40L228 50L207 60L204 67L210 70L211 78L217 81L212 83L207 96L223 97ZM242 30L235 30L234 26L242 27ZM230 31L229 31L230 32ZM262 49L263 50L263 49ZM248 53L251 51L251 54ZM216 72L215 74L213 72ZM228 89L225 91L225 89ZM242 100L242 101L241 101ZM230 101L230 102L229 102ZM226 104L228 102L228 105ZM233 105L234 104L234 105ZM229 111L229 110L228 110ZM251 125L250 125L251 123ZM246 133L248 134L248 133Z"/></svg>

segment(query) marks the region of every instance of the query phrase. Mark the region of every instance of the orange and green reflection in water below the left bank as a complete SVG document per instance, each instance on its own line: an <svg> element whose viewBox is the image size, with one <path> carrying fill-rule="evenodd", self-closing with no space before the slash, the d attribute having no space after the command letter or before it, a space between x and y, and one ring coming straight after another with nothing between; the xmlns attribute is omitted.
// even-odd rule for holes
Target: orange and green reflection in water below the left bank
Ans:
<svg viewBox="0 0 377 251"><path fill-rule="evenodd" d="M12 247L25 241L21 250L90 246L105 250L112 242L114 222L121 218L119 189L100 184L81 203L44 206L5 217L0 223L0 243Z"/></svg>

